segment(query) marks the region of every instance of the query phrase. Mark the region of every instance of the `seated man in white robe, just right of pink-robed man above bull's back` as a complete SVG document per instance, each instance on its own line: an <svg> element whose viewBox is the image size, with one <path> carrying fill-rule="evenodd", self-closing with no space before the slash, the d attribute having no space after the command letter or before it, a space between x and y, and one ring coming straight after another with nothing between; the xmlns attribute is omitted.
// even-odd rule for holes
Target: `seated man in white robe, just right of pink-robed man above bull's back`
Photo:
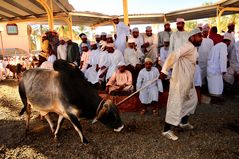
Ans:
<svg viewBox="0 0 239 159"><path fill-rule="evenodd" d="M86 79L92 83L96 84L98 83L98 70L99 70L99 61L100 61L100 49L97 48L97 43L96 42L91 42L91 54L89 56L89 64L88 68L85 71L85 77Z"/></svg>

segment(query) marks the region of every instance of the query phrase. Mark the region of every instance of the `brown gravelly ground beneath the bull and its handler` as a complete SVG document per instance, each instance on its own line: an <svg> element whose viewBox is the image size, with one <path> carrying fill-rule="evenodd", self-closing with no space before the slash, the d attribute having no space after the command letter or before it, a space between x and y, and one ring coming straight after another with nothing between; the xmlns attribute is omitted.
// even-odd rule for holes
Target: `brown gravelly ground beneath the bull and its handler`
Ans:
<svg viewBox="0 0 239 159"><path fill-rule="evenodd" d="M200 104L190 118L194 130L175 128L178 141L161 135L165 108L160 116L151 112L121 113L126 127L115 133L101 123L82 120L88 145L72 125L65 120L59 139L54 140L45 120L32 114L30 132L25 135L25 115L18 116L22 107L17 82L0 82L0 158L239 158L239 95L229 96L224 104ZM57 116L51 114L56 123Z"/></svg>

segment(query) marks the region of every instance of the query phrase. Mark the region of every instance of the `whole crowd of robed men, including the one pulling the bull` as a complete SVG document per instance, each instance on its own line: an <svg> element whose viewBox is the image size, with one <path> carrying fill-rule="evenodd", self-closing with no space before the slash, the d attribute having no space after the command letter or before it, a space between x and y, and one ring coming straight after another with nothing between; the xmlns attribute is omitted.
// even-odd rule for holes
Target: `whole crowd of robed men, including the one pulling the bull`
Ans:
<svg viewBox="0 0 239 159"><path fill-rule="evenodd" d="M170 23L166 22L164 31L156 35L151 26L146 27L145 33L139 33L137 27L130 28L118 18L113 22L114 38L102 32L89 41L81 33L80 45L61 37L56 48L50 47L49 40L43 38L42 52L38 60L32 59L31 67L53 69L53 62L63 59L78 66L98 90L111 95L139 90L141 115L149 106L153 115L158 115L159 92L170 83L162 134L172 140L178 139L172 126L193 128L188 119L200 99L195 88L200 91L206 85L209 94L218 97L225 82L230 85L238 82L239 42L235 42L234 23L228 24L228 31L220 35L215 26L208 24L187 32L184 19L177 18L177 31L172 32Z"/></svg>

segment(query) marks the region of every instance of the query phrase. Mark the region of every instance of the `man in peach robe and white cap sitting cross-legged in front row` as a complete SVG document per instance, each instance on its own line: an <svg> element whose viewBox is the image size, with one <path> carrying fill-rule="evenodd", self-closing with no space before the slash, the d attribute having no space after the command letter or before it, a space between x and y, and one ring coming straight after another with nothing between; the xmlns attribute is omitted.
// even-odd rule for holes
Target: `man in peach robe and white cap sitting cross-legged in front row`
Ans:
<svg viewBox="0 0 239 159"><path fill-rule="evenodd" d="M132 93L132 74L126 70L126 66L123 62L118 64L118 70L114 72L110 80L106 84L106 92L109 94L115 93Z"/></svg>

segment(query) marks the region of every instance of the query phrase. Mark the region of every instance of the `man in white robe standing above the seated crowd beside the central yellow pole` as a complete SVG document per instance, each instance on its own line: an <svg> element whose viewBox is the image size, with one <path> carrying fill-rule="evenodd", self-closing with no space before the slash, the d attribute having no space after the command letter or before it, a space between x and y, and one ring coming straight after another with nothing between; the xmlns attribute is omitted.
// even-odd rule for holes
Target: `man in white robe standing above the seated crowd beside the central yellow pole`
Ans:
<svg viewBox="0 0 239 159"><path fill-rule="evenodd" d="M116 25L115 48L123 53L126 48L127 38L130 35L129 26L120 22L119 18L114 18L113 22Z"/></svg>

